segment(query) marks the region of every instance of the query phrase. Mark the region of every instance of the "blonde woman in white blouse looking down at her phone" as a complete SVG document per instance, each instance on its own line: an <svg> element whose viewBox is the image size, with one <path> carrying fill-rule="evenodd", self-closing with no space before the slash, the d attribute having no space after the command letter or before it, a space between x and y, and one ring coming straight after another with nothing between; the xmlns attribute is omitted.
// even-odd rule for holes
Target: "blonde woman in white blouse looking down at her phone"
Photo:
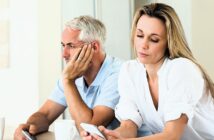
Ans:
<svg viewBox="0 0 214 140"><path fill-rule="evenodd" d="M214 139L214 84L193 57L173 8L143 6L131 39L137 59L120 71L115 114L121 125L114 131L100 127L107 139ZM143 123L152 135L135 138Z"/></svg>

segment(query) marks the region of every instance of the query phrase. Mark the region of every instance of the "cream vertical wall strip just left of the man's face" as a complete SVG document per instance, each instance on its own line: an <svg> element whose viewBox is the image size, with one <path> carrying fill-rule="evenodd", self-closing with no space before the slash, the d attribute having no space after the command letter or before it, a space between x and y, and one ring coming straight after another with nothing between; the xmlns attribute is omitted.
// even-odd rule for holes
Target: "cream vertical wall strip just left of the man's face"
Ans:
<svg viewBox="0 0 214 140"><path fill-rule="evenodd" d="M38 1L39 106L61 75L61 0Z"/></svg>

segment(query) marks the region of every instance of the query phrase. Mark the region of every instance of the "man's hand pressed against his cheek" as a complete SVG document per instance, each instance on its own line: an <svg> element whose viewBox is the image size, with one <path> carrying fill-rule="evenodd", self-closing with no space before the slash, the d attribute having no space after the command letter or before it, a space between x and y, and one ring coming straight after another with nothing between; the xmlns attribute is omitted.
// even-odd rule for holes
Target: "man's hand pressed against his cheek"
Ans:
<svg viewBox="0 0 214 140"><path fill-rule="evenodd" d="M81 77L92 60L94 49L91 44L86 44L77 49L63 70L64 80L75 81L78 77Z"/></svg>

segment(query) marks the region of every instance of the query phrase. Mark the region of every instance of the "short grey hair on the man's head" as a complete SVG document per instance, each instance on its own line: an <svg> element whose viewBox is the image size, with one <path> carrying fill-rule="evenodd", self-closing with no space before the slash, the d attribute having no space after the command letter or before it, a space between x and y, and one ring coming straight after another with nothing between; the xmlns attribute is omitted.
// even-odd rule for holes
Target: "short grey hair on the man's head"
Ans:
<svg viewBox="0 0 214 140"><path fill-rule="evenodd" d="M67 28L80 30L80 40L87 43L96 40L103 47L106 40L106 28L101 21L90 16L79 16L68 21L65 26Z"/></svg>

